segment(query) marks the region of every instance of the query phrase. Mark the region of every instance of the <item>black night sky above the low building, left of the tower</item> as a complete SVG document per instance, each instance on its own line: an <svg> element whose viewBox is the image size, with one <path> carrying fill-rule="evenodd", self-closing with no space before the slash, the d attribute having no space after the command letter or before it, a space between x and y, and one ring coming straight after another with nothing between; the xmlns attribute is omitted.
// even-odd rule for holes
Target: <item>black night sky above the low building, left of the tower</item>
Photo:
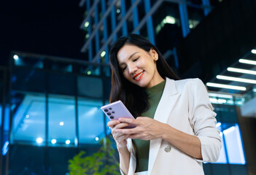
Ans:
<svg viewBox="0 0 256 175"><path fill-rule="evenodd" d="M79 0L8 0L0 6L0 65L12 50L86 59Z"/></svg>

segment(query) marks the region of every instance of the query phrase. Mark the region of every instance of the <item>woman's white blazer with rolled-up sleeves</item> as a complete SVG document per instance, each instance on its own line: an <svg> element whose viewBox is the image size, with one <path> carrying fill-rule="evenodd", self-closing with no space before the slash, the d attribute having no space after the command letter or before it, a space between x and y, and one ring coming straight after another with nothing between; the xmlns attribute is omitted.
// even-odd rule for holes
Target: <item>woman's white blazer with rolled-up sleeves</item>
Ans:
<svg viewBox="0 0 256 175"><path fill-rule="evenodd" d="M220 131L216 128L215 116L200 79L174 81L166 78L166 86L154 119L198 136L203 160L190 157L168 141L154 139L150 141L148 175L204 174L202 162L217 161L220 155L221 138ZM131 152L128 175L133 175L136 170L136 152L131 139L128 139L127 146Z"/></svg>

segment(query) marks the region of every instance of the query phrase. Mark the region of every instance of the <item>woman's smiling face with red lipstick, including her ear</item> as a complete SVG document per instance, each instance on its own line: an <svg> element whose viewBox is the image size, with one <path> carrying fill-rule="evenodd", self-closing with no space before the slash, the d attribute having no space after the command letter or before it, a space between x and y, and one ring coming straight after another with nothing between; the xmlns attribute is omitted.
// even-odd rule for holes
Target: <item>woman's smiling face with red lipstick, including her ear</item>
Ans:
<svg viewBox="0 0 256 175"><path fill-rule="evenodd" d="M163 81L158 73L156 60L158 53L155 50L146 52L131 44L125 44L117 52L117 61L123 76L141 88L151 88Z"/></svg>

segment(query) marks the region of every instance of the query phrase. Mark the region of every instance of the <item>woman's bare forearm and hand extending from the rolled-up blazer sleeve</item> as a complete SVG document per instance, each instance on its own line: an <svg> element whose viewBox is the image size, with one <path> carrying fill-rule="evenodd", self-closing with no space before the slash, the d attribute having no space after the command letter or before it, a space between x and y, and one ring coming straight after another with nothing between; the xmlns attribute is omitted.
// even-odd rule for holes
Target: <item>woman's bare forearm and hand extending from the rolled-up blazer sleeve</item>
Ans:
<svg viewBox="0 0 256 175"><path fill-rule="evenodd" d="M129 134L130 136L128 138L131 139L163 139L187 155L202 159L201 141L197 136L179 131L168 124L160 123L150 117L137 117L136 120L120 118L119 122L127 123L128 125L133 124L136 127L131 129L116 129L116 133Z"/></svg>

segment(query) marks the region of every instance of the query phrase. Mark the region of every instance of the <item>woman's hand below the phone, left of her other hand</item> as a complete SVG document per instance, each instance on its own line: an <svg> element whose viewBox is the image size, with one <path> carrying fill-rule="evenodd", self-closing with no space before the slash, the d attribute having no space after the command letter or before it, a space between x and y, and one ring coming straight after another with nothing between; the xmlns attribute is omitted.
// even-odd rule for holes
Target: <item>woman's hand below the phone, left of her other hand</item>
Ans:
<svg viewBox="0 0 256 175"><path fill-rule="evenodd" d="M128 123L120 123L119 120L112 120L107 123L109 128L112 130L112 136L115 139L115 142L117 143L117 149L121 149L123 147L126 147L127 141L126 139L128 138L129 134L125 133L117 133L117 129L122 129L124 127L128 126Z"/></svg>

